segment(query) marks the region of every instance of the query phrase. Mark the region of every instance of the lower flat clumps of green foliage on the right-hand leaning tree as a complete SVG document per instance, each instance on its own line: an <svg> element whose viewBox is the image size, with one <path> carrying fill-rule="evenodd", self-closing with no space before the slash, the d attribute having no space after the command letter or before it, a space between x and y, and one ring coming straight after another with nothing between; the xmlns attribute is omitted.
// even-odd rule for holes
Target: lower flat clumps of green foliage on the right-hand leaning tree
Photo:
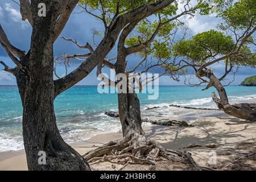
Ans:
<svg viewBox="0 0 256 182"><path fill-rule="evenodd" d="M210 63L217 57L229 55L236 48L236 43L231 36L223 32L210 30L197 34L189 40L181 40L174 48L175 56L184 56L196 64ZM256 56L251 52L250 47L243 45L237 56L230 56L225 59L230 64L255 67Z"/></svg>

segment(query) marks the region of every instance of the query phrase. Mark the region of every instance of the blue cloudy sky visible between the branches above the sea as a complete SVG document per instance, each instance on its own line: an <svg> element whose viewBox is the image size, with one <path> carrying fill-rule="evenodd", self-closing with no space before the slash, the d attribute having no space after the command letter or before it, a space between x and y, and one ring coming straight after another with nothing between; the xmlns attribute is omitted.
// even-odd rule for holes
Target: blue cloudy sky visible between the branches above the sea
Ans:
<svg viewBox="0 0 256 182"><path fill-rule="evenodd" d="M61 36L65 36L67 38L76 39L80 44L86 44L89 42L93 44L92 39L92 31L93 30L102 30L103 25L100 21L96 20L92 16L88 14L78 14L79 10L75 10L75 13L71 15L67 25L65 26L63 32L61 32ZM1 0L0 2L0 23L2 24L3 29L5 30L10 42L24 50L28 51L30 46L30 36L31 36L31 26L26 21L22 21L20 13L19 13L19 5L12 2L11 0ZM214 29L218 23L218 19L213 16L201 16L196 15L194 18L189 19L189 34L195 35L197 33L207 31L210 29ZM96 43L100 42L100 38L96 38ZM63 39L57 39L54 45L54 55L60 56L64 53L67 54L75 54L75 53L85 53L83 50L77 48L75 45L69 42L65 42ZM115 49L109 54L109 58L115 56ZM0 60L5 61L9 67L14 67L14 64L11 62L9 57L7 56L4 49L0 46ZM130 57L130 64L135 64L139 61L139 58L136 56ZM75 69L79 65L78 61L72 63L71 68ZM214 66L214 70L218 74L221 74L224 65L217 64ZM1 65L0 68L2 69ZM58 67L58 75L64 75L64 67ZM108 72L105 70L105 72ZM154 72L158 72L157 70ZM160 71L159 71L160 72ZM256 69L252 68L241 68L240 71L236 75L236 80L233 82L234 85L240 84L243 78L247 76L256 75ZM230 75L231 79L232 75ZM168 76L163 76L160 78L160 85L183 85L183 79L180 82L176 82L171 80ZM79 85L97 85L97 77L96 71L94 70L88 77L82 80ZM16 85L15 78L5 71L0 70L0 85Z"/></svg>

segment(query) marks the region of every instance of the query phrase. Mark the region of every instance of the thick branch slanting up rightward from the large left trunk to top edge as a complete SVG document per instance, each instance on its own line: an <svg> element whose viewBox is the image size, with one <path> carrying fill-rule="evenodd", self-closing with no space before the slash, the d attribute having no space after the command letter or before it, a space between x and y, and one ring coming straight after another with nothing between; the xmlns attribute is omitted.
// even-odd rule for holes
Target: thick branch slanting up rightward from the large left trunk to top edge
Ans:
<svg viewBox="0 0 256 182"><path fill-rule="evenodd" d="M172 2L174 2L174 0L162 0L153 4L142 5L137 9L129 11L129 13L119 15L116 19L114 19L114 21L110 23L108 33L105 35L104 39L101 41L92 55L67 76L55 80L55 97L85 78L90 72L92 72L98 63L104 60L109 51L114 47L114 44L123 27L130 22L141 20L159 10L163 10Z"/></svg>

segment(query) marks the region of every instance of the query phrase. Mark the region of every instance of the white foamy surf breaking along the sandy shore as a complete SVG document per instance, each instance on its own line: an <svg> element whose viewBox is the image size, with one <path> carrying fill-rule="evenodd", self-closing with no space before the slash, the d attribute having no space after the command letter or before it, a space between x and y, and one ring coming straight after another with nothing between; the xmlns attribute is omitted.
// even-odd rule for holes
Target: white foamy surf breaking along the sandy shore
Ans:
<svg viewBox="0 0 256 182"><path fill-rule="evenodd" d="M229 96L230 103L241 102L255 102L256 94L248 96ZM186 119L189 117L201 117L199 110L184 110L169 107L171 104L181 106L194 106L194 107L216 107L216 104L212 101L211 97L196 98L192 100L181 100L171 103L156 103L142 105L142 118L172 118L172 119ZM148 107L159 107L154 110L146 110ZM117 109L111 109L110 111L118 111ZM113 133L121 131L121 123L119 118L112 118L105 115L104 112L92 112L85 113L82 110L77 110L74 115L66 115L61 117L58 121L58 127L60 129L61 136L68 143L80 142L82 140L89 139L97 134ZM201 113L207 113L201 111ZM191 118L189 118L191 119ZM8 119L10 121L22 121L22 115ZM7 121L7 120L6 120ZM143 127L151 126L150 123L143 123ZM2 129L5 132L4 128ZM0 151L21 150L23 149L22 137L13 137L11 135L0 133Z"/></svg>

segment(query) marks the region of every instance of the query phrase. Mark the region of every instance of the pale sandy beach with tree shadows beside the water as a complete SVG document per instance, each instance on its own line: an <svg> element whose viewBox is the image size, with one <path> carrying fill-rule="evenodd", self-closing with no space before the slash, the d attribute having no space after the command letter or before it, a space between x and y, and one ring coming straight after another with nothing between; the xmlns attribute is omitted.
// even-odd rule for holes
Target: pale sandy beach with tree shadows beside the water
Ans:
<svg viewBox="0 0 256 182"><path fill-rule="evenodd" d="M256 150L256 123L247 123L226 114L209 115L188 122L193 127L156 126L144 127L147 138L175 150L188 150L200 166L224 169L235 159L243 158ZM96 135L84 142L72 143L81 155L111 140L122 137L118 133ZM216 155L216 163L209 164L210 157ZM128 165L125 169L148 169L148 166ZM256 169L255 160L246 160L245 166ZM104 162L91 166L97 170L118 170L122 167ZM0 170L27 170L24 150L0 153Z"/></svg>

